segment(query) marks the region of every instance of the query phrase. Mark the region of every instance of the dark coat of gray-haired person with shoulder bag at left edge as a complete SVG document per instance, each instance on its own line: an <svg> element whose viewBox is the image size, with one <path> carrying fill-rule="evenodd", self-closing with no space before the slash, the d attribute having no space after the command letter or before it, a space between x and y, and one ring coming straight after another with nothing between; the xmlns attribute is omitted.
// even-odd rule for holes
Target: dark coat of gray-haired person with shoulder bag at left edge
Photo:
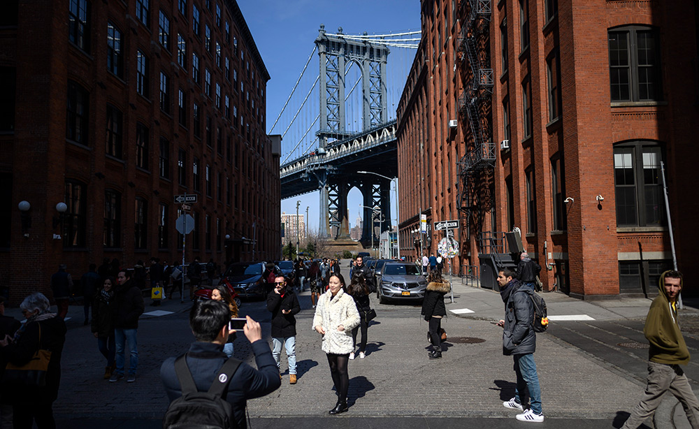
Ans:
<svg viewBox="0 0 699 429"><path fill-rule="evenodd" d="M41 335L39 325L41 325ZM12 404L55 401L61 381L61 354L65 342L66 323L62 318L55 316L29 323L17 342L2 347L0 350L3 361L15 365L27 364L40 347L51 351L46 372L46 386L34 388L13 386L13 388L0 389L3 400Z"/></svg>

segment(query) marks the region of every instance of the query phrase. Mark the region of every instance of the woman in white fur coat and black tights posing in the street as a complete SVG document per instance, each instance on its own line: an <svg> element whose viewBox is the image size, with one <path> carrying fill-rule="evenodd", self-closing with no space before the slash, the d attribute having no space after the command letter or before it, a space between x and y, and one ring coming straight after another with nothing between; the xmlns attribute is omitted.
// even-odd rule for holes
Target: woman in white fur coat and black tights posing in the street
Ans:
<svg viewBox="0 0 699 429"><path fill-rule="evenodd" d="M359 325L359 312L354 299L345 289L345 279L333 273L328 281L329 289L318 300L313 317L313 328L323 335L322 349L328 356L330 374L333 377L338 403L330 414L347 411L349 353L354 349L352 329Z"/></svg>

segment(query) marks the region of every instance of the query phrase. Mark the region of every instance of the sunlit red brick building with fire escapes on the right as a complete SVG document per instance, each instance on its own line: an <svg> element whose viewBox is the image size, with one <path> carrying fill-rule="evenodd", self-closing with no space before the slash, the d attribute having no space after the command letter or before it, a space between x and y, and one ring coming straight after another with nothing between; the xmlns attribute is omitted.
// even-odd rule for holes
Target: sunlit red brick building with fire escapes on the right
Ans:
<svg viewBox="0 0 699 429"><path fill-rule="evenodd" d="M414 66L398 110L399 171L415 170L419 150L408 134L416 115L428 118L421 142L431 160L417 168L427 197L401 200L403 247L417 228L407 213L427 208L430 220L442 220L461 212L456 266L477 266L483 277L492 265L484 259L505 243L498 231L517 227L545 267L545 289L579 298L653 294L672 267L663 163L677 263L686 291L696 291L696 4L422 6L426 75L417 80ZM426 103L410 103L415 82L427 82ZM457 119L456 129L447 119ZM460 160L451 171L449 159ZM415 177L400 180L401 189L415 186ZM439 238L433 233L432 243Z"/></svg>

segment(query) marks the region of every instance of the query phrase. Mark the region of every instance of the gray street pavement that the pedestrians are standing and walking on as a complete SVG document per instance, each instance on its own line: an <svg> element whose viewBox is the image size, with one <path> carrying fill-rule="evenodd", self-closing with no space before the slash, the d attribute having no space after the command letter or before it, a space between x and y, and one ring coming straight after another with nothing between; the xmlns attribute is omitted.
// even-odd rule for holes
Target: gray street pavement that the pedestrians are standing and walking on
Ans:
<svg viewBox="0 0 699 429"><path fill-rule="evenodd" d="M346 267L345 261L343 270ZM545 293L544 297L549 315L586 314L594 320L552 321L547 333L538 335L535 359L546 416L540 426L620 426L642 393L647 349L619 344L644 343L642 323L651 300L586 302L562 293ZM449 303L447 298L447 310L468 308L473 313L450 314L445 319L443 327L449 338L444 357L438 361L429 361L426 356L427 325L420 317L419 303L382 305L373 297L378 316L369 328L367 357L350 362L350 409L339 417L327 415L335 395L320 337L310 326L314 310L308 291L301 293L300 300L298 384L289 385L282 354L281 388L248 402L252 428L280 423L327 428L531 426L516 421L516 413L502 407L514 393L514 372L512 359L502 354L502 330L490 323L502 318L498 293L463 285L454 278L455 302ZM189 307L190 303L182 304L179 299L146 307L146 312L172 313L142 317L138 379L125 384L101 378L103 358L89 326L82 326L82 306L71 306L61 391L54 406L59 428L159 427L168 405L159 367L167 356L186 351L193 340L187 326ZM263 323L263 334L269 340L269 314L264 303L245 302L240 310ZM7 314L22 319L18 309L8 309ZM683 321L696 315L699 312L692 308L682 312ZM699 351L696 334L687 333L686 338L691 351ZM236 357L254 364L243 335L236 340ZM687 373L699 387L699 365L691 363ZM688 425L676 401L663 401L656 413L656 428Z"/></svg>

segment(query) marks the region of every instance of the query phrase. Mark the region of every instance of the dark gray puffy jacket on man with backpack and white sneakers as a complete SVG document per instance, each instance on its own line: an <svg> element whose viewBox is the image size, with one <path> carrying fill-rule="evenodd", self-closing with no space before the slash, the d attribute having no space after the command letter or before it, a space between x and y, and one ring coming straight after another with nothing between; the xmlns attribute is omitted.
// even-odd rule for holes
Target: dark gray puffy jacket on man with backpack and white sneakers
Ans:
<svg viewBox="0 0 699 429"><path fill-rule="evenodd" d="M503 354L530 354L536 350L534 305L528 293L534 293L526 284L512 281L510 296L505 304L505 328L503 330ZM505 291L506 292L506 291Z"/></svg>

